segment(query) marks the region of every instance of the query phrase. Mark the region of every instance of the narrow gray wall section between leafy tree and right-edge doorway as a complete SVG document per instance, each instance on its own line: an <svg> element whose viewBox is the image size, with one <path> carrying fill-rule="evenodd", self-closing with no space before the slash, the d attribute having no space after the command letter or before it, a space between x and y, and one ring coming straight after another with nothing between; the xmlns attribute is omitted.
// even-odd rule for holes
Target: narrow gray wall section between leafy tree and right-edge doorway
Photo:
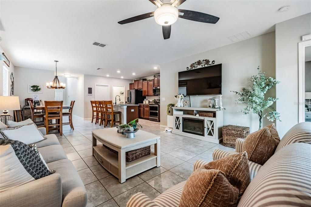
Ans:
<svg viewBox="0 0 311 207"><path fill-rule="evenodd" d="M284 136L298 123L298 43L301 36L311 33L311 13L276 24L276 109L282 122L276 123L279 135Z"/></svg>

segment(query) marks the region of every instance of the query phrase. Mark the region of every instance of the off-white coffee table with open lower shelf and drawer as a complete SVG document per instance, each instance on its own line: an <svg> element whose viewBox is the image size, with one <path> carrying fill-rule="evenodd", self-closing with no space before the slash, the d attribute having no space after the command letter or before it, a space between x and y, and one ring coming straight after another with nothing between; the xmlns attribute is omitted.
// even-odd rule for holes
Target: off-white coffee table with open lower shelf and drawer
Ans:
<svg viewBox="0 0 311 207"><path fill-rule="evenodd" d="M125 135L117 133L115 127L92 131L92 155L95 156L101 166L117 177L120 183L150 168L160 167L160 136L142 130L137 131L135 134L134 139L125 138ZM96 145L96 140L116 150L118 155L102 145ZM132 162L125 161L125 152L150 145L155 145L154 153L151 152L150 155Z"/></svg>

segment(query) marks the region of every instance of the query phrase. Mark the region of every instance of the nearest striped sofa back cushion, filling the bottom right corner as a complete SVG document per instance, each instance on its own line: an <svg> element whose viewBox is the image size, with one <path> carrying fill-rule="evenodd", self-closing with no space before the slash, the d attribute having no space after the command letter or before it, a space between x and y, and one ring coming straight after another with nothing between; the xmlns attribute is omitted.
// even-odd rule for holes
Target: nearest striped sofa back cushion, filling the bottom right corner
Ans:
<svg viewBox="0 0 311 207"><path fill-rule="evenodd" d="M311 206L310 158L309 144L285 146L262 166L238 206Z"/></svg>

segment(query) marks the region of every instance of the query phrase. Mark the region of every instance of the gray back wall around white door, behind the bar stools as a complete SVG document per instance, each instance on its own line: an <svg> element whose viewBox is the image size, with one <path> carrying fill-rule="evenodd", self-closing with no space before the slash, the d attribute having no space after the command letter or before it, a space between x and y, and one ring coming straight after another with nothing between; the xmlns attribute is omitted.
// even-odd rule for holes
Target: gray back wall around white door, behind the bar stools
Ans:
<svg viewBox="0 0 311 207"><path fill-rule="evenodd" d="M90 75L84 75L84 118L91 118L92 117L92 109L90 101L95 99L95 84L103 84L103 85L109 85L109 91L110 91L110 100L114 101L114 97L112 97L113 91L112 86L118 85L118 86L125 86L125 101L127 101L127 94L126 91L129 90L129 84L132 83L132 80L127 79L120 79L120 78L107 78L103 76L90 76ZM87 88L91 87L93 91L93 95L89 96L87 94Z"/></svg>

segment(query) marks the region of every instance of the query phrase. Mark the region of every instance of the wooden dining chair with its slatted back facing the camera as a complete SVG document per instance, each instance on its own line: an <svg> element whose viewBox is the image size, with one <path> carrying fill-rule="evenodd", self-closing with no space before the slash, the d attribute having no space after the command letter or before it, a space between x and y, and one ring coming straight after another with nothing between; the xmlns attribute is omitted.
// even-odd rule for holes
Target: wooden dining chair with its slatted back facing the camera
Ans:
<svg viewBox="0 0 311 207"><path fill-rule="evenodd" d="M63 135L63 101L44 101L45 115L44 125L46 134L49 134L49 130L59 130L60 136ZM55 124L50 120L55 119Z"/></svg>

